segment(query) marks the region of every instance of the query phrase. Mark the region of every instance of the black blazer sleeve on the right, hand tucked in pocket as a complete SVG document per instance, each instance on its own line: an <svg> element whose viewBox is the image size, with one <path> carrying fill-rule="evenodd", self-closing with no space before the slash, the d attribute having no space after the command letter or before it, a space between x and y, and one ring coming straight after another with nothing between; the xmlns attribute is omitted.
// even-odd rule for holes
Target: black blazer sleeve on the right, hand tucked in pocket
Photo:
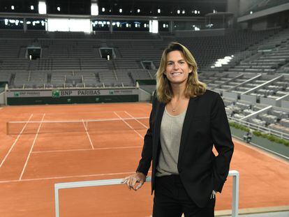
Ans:
<svg viewBox="0 0 289 217"><path fill-rule="evenodd" d="M223 184L228 177L230 161L234 151L234 144L230 132L225 105L219 94L216 94L214 106L211 112L211 133L214 147L218 151L218 156L214 160L213 190L221 193Z"/></svg>

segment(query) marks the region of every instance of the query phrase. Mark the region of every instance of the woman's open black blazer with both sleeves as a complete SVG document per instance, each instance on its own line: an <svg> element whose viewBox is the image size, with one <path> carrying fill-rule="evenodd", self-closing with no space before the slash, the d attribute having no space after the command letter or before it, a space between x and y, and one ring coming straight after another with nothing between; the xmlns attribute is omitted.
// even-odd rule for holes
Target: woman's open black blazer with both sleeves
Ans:
<svg viewBox="0 0 289 217"><path fill-rule="evenodd" d="M155 94L156 95L156 94ZM151 193L158 163L161 119L165 104L154 96L149 129L144 136L142 158L137 172L147 175L152 160ZM212 152L216 148L218 156ZM221 96L207 90L190 98L181 132L177 168L184 188L199 207L205 207L212 190L221 193L228 176L234 145Z"/></svg>

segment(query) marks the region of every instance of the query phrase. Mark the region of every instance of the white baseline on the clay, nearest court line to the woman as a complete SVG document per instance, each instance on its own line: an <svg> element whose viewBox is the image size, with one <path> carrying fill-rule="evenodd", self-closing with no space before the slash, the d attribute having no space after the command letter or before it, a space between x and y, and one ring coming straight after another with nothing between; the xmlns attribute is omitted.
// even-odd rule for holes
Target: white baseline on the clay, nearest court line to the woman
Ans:
<svg viewBox="0 0 289 217"><path fill-rule="evenodd" d="M149 171L151 172L151 171ZM47 177L47 178L36 178L36 179L13 179L13 180L5 180L0 181L0 184L3 183L11 183L11 182L20 182L20 181L44 181L44 180L52 180L52 179L70 179L70 178L83 178L83 177L103 177L103 176L113 176L113 175L124 175L124 174L133 174L133 172L116 172L116 173L100 173L100 174L89 174L89 175L78 175L78 176L65 176L65 177Z"/></svg>

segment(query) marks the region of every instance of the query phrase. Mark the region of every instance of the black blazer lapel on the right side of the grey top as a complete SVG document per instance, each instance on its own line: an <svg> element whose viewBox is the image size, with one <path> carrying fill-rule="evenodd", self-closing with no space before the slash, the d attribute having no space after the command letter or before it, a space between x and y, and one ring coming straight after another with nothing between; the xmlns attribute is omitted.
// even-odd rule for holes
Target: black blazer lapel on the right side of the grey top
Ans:
<svg viewBox="0 0 289 217"><path fill-rule="evenodd" d="M184 147L187 144L188 133L190 130L192 119L195 116L195 111L197 110L197 104L196 104L197 99L198 99L198 96L196 96L195 98L190 98L190 100L188 101L188 108L186 109L186 116L184 119L183 128L181 130L181 142L179 145L178 166L179 166L179 162L181 162L180 160L184 153Z"/></svg>

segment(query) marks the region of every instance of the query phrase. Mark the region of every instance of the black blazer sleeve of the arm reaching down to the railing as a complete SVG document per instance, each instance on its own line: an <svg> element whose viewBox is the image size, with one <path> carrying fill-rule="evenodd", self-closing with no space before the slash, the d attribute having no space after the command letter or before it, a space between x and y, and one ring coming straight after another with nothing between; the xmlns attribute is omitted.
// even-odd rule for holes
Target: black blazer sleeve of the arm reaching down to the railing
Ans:
<svg viewBox="0 0 289 217"><path fill-rule="evenodd" d="M149 167L151 167L151 160L152 160L152 146L153 146L152 123L155 113L155 106L156 106L155 104L156 104L156 93L154 93L154 97L152 100L152 109L151 114L149 115L149 128L147 129L146 135L144 135L142 157L140 158L140 163L138 164L138 168L136 170L136 172L142 172L146 176L147 173L149 172Z"/></svg>

